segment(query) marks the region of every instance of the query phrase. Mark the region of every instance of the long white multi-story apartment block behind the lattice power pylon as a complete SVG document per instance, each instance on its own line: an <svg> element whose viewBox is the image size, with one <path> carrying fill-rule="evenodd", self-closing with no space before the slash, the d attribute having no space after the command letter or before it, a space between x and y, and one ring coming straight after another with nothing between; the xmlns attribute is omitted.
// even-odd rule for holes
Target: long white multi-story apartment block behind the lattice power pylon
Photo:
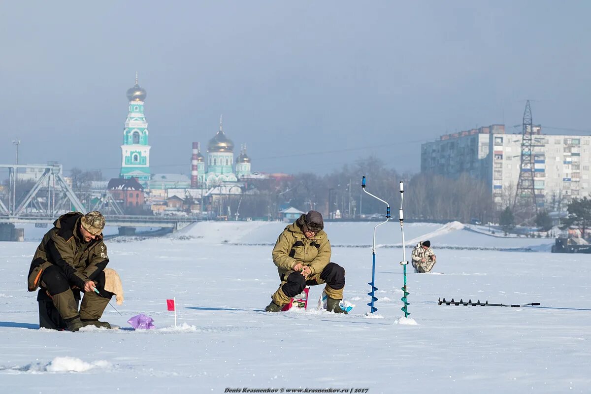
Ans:
<svg viewBox="0 0 591 394"><path fill-rule="evenodd" d="M421 145L421 172L450 178L466 173L485 181L498 208L512 204L521 164L521 133L491 125L442 135ZM532 129L534 189L538 207L566 209L574 197L589 196L590 135L549 135Z"/></svg>

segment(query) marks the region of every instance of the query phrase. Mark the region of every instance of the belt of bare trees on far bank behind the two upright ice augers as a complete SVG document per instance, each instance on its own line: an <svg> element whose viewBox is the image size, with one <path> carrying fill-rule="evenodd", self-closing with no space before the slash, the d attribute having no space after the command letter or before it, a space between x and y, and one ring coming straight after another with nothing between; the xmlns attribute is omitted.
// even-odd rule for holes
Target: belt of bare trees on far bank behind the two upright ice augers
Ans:
<svg viewBox="0 0 591 394"><path fill-rule="evenodd" d="M330 217L335 217L338 210L341 218L350 219L385 216L385 204L363 193L363 176L367 191L387 201L393 217L400 207L400 181L404 181L404 212L408 219L467 223L472 219L492 220L496 215L491 193L483 181L466 174L450 180L434 174L400 173L375 157L344 165L330 174L300 173L275 183L259 182L255 187L258 198L266 199L273 207L288 204Z"/></svg>

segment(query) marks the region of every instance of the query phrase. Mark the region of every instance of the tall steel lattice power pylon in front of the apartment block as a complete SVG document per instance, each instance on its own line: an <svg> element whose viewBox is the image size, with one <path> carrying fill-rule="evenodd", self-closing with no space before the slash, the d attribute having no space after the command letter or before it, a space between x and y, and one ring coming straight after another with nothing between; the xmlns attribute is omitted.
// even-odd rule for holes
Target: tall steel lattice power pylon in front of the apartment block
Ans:
<svg viewBox="0 0 591 394"><path fill-rule="evenodd" d="M516 219L521 220L522 223L533 219L538 211L534 188L534 145L531 138L533 132L530 100L527 100L523 113L519 180L517 181L517 193L515 193L513 203L513 213Z"/></svg>

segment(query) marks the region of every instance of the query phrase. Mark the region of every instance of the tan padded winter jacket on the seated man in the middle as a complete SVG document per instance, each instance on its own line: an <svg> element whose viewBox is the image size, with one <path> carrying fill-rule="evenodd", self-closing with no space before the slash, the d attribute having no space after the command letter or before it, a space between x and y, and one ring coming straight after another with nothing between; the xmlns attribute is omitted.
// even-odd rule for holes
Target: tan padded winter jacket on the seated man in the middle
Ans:
<svg viewBox="0 0 591 394"><path fill-rule="evenodd" d="M322 272L330 262L330 241L326 232L320 230L310 239L306 238L301 230L305 217L306 215L302 215L296 222L285 227L277 238L272 255L280 278L286 272L293 271L297 263L309 266L313 275Z"/></svg>

